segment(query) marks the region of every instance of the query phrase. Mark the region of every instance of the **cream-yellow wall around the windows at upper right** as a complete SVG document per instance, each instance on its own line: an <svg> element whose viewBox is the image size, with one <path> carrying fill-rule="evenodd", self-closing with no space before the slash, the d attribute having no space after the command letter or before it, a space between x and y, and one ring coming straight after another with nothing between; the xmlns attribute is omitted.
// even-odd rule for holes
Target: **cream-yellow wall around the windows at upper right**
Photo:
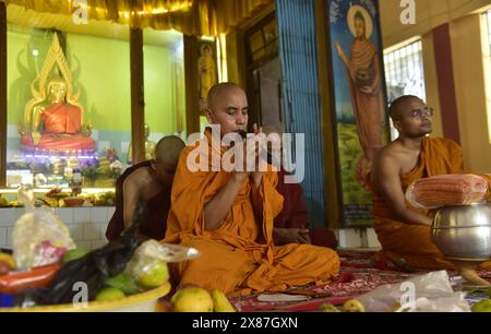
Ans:
<svg viewBox="0 0 491 334"><path fill-rule="evenodd" d="M432 29L450 23L458 126L466 167L477 172L491 172L491 155L487 154L491 148L491 79L484 77L484 68L490 65L484 63L483 57L489 50L482 47L488 37L482 34L479 14L491 8L490 0L415 0L415 25L400 23L403 9L399 3L399 0L380 1L383 44L391 48L421 36L427 102L436 109L435 136L443 135L441 118L445 110L441 110L439 104Z"/></svg>

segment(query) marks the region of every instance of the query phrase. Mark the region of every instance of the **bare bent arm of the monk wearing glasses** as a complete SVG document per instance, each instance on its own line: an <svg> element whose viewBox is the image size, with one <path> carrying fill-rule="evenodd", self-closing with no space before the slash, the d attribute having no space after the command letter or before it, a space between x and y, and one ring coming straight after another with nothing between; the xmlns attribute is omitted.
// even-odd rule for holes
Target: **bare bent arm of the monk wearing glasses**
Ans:
<svg viewBox="0 0 491 334"><path fill-rule="evenodd" d="M409 225L431 226L431 218L406 206L406 199L400 184L399 165L387 155L379 156L373 166L373 182L391 206L395 218Z"/></svg>

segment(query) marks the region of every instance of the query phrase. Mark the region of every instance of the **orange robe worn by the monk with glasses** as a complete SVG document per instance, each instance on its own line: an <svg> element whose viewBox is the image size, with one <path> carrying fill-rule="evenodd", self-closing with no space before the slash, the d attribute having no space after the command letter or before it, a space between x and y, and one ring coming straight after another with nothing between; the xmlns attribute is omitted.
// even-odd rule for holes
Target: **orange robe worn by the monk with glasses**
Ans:
<svg viewBox="0 0 491 334"><path fill-rule="evenodd" d="M445 174L464 171L462 148L453 141L439 138L423 138L418 165L407 175L400 177L403 191L416 180ZM417 211L433 217L434 211ZM383 250L379 260L405 260L409 265L419 269L440 270L454 269L446 261L436 246L431 241L431 228L397 222L385 200L373 189L374 229Z"/></svg>

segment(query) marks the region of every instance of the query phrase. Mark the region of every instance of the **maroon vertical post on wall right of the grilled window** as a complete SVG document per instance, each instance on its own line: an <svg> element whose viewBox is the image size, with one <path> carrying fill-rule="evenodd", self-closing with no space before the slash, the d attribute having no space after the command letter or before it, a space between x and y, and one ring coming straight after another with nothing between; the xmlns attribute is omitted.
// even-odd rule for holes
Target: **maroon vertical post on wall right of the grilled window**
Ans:
<svg viewBox="0 0 491 334"><path fill-rule="evenodd" d="M442 110L443 135L460 144L457 97L455 94L454 65L448 23L433 29L434 61Z"/></svg>

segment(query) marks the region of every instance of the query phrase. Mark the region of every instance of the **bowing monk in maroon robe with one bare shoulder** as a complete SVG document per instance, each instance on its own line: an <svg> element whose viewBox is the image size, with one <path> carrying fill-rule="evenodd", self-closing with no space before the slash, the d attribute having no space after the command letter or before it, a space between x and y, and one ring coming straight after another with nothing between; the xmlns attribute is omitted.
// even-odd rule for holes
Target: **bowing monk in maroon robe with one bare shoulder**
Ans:
<svg viewBox="0 0 491 334"><path fill-rule="evenodd" d="M132 224L139 199L147 204L146 220L140 226L139 239L161 240L166 232L173 174L184 142L175 135L163 138L156 146L156 158L128 168L116 181L116 212L106 230L116 240Z"/></svg>

